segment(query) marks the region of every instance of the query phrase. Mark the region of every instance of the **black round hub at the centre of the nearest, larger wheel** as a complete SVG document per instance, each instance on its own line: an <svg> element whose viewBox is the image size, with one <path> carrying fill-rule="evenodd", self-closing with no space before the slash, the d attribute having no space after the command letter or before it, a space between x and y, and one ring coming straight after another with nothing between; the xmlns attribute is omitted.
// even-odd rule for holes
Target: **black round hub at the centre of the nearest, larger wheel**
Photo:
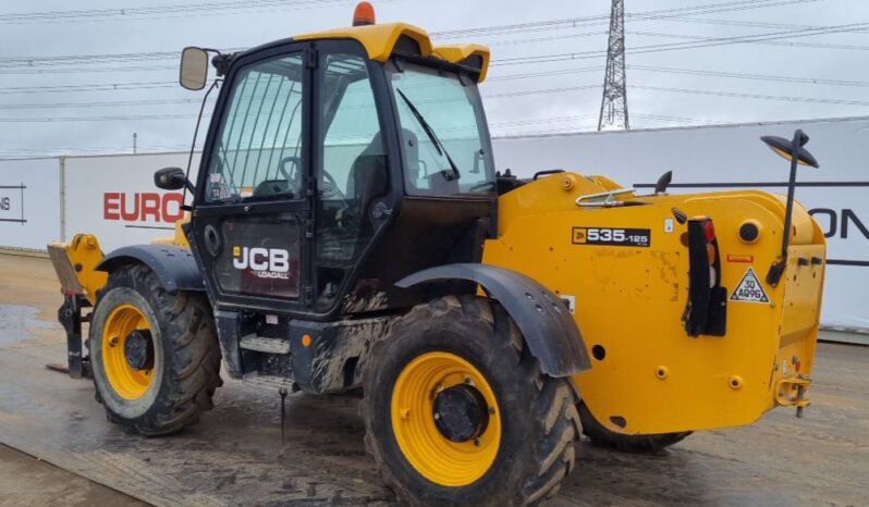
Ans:
<svg viewBox="0 0 869 507"><path fill-rule="evenodd" d="M432 417L438 431L448 440L467 442L486 431L489 407L476 387L457 384L438 392Z"/></svg>

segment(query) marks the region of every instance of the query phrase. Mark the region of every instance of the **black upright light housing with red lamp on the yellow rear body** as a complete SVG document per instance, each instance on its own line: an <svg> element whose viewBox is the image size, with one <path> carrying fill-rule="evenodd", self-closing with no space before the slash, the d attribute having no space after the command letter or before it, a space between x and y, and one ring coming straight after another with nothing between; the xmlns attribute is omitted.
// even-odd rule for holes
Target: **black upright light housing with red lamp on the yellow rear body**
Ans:
<svg viewBox="0 0 869 507"><path fill-rule="evenodd" d="M727 290L721 287L715 225L708 217L688 220L688 302L683 320L690 336L723 336Z"/></svg>

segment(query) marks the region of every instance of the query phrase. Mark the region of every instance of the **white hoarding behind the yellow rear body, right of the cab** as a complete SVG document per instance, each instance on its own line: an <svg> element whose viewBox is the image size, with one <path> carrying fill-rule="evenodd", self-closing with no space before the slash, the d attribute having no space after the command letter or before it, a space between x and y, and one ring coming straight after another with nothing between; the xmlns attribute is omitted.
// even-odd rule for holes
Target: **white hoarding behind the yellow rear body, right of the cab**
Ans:
<svg viewBox="0 0 869 507"><path fill-rule="evenodd" d="M502 137L493 140L499 166L519 177L564 168L603 174L626 187L651 191L673 171L668 191L759 188L787 191L787 162L760 141L762 135L791 138L801 128L820 170L800 166L796 198L827 236L829 262L821 324L869 331L869 177L866 133L869 118L786 123L712 125L571 135ZM766 273L763 273L766 275ZM841 339L847 335L829 335ZM865 342L866 343L866 342Z"/></svg>

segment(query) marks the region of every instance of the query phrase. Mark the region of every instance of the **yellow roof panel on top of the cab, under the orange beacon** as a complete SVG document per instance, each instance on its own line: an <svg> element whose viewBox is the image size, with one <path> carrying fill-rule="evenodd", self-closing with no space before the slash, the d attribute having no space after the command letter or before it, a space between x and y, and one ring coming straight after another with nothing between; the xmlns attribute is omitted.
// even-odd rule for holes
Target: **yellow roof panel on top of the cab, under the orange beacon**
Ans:
<svg viewBox="0 0 869 507"><path fill-rule="evenodd" d="M450 63L475 69L479 72L477 83L486 78L489 67L489 48L480 44L462 44L433 46L428 33L407 23L384 23L346 28L334 28L322 32L310 32L293 37L293 40L314 39L354 39L365 47L368 58L385 62L397 48L406 47L403 41L415 42L415 50L420 57L434 58ZM404 51L402 51L404 52Z"/></svg>

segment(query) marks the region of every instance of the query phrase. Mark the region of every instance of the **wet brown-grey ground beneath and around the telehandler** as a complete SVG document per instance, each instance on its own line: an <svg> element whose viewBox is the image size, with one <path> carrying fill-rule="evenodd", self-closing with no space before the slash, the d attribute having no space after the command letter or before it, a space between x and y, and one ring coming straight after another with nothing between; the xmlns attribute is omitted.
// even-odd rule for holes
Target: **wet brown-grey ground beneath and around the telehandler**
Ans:
<svg viewBox="0 0 869 507"><path fill-rule="evenodd" d="M26 325L0 343L0 443L155 505L394 502L365 454L353 398L291 396L282 446L277 393L228 381L200 424L170 437L125 434L106 421L90 381L45 368L65 358L52 323L60 302L47 260L0 256L0 304L35 309L10 310ZM8 308L0 322L11 321ZM577 469L551 505L869 505L869 348L821 344L813 376L804 419L773 411L657 456L577 444ZM4 484L14 505L40 505Z"/></svg>

